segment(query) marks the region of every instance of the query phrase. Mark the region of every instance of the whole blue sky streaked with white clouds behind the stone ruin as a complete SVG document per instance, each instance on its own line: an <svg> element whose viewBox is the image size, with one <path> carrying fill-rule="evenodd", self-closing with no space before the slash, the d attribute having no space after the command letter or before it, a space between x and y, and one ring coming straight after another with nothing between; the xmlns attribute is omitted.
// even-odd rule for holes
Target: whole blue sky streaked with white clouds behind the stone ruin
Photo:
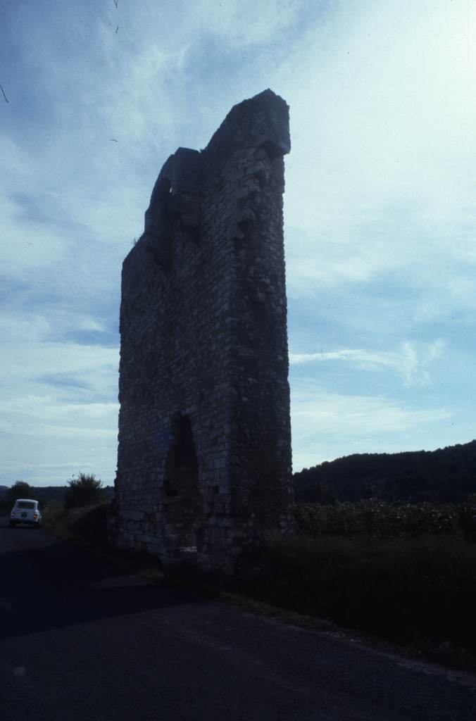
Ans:
<svg viewBox="0 0 476 721"><path fill-rule="evenodd" d="M167 156L266 87L294 469L475 437L472 2L0 1L0 83L0 484L113 482L123 257Z"/></svg>

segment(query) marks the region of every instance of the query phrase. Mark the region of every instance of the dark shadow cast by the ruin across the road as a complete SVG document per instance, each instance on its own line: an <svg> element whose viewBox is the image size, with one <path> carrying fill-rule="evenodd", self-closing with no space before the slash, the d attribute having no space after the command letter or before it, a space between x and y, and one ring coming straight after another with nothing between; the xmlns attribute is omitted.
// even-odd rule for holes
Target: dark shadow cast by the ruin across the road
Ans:
<svg viewBox="0 0 476 721"><path fill-rule="evenodd" d="M0 528L0 637L32 634L164 606L203 603L182 591L133 575L123 564L66 541L9 550L12 536L31 528ZM44 536L43 536L44 537ZM22 545L27 541L21 539ZM34 543L32 539L32 543Z"/></svg>

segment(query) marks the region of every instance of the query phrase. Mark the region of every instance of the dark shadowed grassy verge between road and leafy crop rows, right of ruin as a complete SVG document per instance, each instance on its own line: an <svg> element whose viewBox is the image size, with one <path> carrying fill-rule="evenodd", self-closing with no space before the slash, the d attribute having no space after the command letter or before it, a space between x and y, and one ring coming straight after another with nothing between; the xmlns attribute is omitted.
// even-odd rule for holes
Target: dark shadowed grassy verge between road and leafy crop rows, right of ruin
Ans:
<svg viewBox="0 0 476 721"><path fill-rule="evenodd" d="M265 539L255 598L463 665L476 654L476 546L462 539ZM472 661L471 661L472 663Z"/></svg>

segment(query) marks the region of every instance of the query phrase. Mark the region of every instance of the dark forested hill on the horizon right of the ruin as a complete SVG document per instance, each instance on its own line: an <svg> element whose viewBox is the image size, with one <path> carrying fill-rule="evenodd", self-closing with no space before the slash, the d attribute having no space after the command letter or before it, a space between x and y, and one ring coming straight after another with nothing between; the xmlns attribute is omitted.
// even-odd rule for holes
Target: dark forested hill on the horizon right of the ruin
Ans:
<svg viewBox="0 0 476 721"><path fill-rule="evenodd" d="M397 454L356 454L294 474L296 501L462 501L476 493L476 441Z"/></svg>

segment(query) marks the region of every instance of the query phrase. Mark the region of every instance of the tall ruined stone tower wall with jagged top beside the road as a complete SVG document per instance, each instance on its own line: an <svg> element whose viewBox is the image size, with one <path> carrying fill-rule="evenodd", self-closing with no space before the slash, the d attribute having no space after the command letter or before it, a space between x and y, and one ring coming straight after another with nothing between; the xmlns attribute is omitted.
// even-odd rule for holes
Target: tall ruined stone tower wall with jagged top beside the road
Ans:
<svg viewBox="0 0 476 721"><path fill-rule="evenodd" d="M118 547L233 573L263 531L291 531L289 149L288 106L265 90L157 178L123 263Z"/></svg>

